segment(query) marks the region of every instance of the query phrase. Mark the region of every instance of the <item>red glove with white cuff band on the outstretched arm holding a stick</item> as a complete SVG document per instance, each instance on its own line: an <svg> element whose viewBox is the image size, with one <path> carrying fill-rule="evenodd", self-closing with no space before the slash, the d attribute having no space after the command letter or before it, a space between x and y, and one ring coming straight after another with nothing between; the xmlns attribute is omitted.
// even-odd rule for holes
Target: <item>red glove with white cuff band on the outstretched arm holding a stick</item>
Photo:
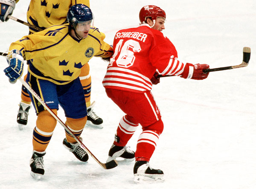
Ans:
<svg viewBox="0 0 256 189"><path fill-rule="evenodd" d="M209 75L208 73L203 73L203 70L206 70L209 68L209 65L207 64L189 64L186 63L184 72L181 75L182 78L185 79L196 79L196 80L202 80L206 79Z"/></svg>

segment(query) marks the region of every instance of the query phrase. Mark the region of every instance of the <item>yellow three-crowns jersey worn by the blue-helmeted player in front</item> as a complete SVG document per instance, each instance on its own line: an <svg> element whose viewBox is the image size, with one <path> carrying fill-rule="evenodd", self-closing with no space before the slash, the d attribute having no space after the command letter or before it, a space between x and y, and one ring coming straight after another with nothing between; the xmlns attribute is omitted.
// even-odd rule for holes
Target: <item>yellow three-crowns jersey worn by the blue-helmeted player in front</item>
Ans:
<svg viewBox="0 0 256 189"><path fill-rule="evenodd" d="M99 29L91 28L87 38L82 40L69 35L69 29L68 24L50 26L12 43L9 51L20 50L33 76L55 84L67 84L76 79L81 67L93 56L113 55L113 48L103 41L105 34Z"/></svg>

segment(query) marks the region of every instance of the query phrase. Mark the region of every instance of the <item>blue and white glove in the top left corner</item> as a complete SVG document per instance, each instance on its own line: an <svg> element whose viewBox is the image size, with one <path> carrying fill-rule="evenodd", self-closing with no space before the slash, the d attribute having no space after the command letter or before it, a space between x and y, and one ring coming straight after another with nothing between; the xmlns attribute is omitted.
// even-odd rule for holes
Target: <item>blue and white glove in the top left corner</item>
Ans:
<svg viewBox="0 0 256 189"><path fill-rule="evenodd" d="M15 4L15 0L0 0L0 20L2 22L9 20L7 16L12 15Z"/></svg>

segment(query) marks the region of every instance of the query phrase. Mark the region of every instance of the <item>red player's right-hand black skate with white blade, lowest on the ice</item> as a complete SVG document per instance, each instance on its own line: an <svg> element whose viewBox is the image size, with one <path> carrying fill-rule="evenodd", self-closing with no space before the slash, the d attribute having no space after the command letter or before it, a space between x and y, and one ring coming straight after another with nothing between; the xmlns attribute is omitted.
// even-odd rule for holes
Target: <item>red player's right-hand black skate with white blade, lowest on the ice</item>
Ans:
<svg viewBox="0 0 256 189"><path fill-rule="evenodd" d="M148 161L136 161L134 165L134 182L136 183L154 183L163 182L163 171L152 169Z"/></svg>

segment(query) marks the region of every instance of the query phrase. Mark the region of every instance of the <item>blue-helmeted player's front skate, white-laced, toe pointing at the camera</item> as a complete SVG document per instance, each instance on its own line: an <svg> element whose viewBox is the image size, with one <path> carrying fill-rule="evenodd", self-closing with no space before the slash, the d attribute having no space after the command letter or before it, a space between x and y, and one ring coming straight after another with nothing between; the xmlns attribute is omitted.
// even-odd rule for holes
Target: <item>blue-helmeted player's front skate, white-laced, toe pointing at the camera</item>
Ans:
<svg viewBox="0 0 256 189"><path fill-rule="evenodd" d="M46 154L45 151L33 151L33 155L30 159L31 176L35 180L39 180L44 175L44 160L43 156Z"/></svg>

